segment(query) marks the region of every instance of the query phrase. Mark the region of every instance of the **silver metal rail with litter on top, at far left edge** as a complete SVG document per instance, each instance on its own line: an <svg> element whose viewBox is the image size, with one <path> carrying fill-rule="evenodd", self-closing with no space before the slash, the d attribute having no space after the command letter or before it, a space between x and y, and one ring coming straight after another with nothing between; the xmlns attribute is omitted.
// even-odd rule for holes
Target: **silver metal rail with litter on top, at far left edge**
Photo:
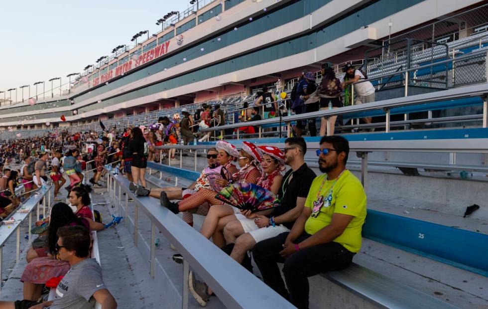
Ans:
<svg viewBox="0 0 488 309"><path fill-rule="evenodd" d="M2 249L8 238L15 232L16 239L16 251L15 251L15 261L16 263L20 260L20 224L28 218L28 240L31 240L30 227L32 225L32 210L36 209L37 221L40 215L39 202L42 201L42 215L46 216L46 208L48 208L48 202L46 201L46 194L50 194L51 185L46 188L39 188L38 192L29 198L24 204L20 206L14 213L10 214L5 218L0 225L0 278L2 274ZM50 196L48 195L47 200ZM10 223L9 223L10 222ZM1 290L1 286L0 286Z"/></svg>

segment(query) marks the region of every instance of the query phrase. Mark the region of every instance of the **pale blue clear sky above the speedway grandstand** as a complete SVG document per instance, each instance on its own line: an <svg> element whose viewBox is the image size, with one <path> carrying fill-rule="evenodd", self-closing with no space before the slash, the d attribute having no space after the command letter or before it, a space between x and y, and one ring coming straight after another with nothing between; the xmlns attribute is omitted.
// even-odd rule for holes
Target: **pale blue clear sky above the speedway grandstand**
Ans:
<svg viewBox="0 0 488 309"><path fill-rule="evenodd" d="M65 84L66 75L83 72L118 45L132 44L136 32L149 30L150 35L161 30L156 20L169 11L185 10L189 2L0 0L0 91L30 84L33 96L34 82L44 81L46 91L53 77L61 77Z"/></svg>

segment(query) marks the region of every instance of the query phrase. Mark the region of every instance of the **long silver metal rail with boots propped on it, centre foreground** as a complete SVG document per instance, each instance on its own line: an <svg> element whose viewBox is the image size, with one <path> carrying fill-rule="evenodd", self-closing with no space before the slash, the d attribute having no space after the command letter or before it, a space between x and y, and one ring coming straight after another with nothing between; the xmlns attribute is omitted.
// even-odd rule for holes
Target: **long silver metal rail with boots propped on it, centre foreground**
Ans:
<svg viewBox="0 0 488 309"><path fill-rule="evenodd" d="M128 180L121 175L109 174L107 185L114 202L118 201L120 211L124 213L127 223L128 199L135 203L134 213L134 244L138 247L139 231L138 216L142 210L151 221L150 261L151 278L156 273L156 228L173 244L183 256L183 309L188 308L188 274L190 266L211 287L219 300L227 308L294 308L262 281L232 260L222 250L215 247L208 239L195 229L177 220L176 215L161 207L156 199L138 197L128 190ZM125 201L122 202L122 191ZM125 205L125 206L124 206ZM145 247L145 246L144 246ZM211 253L211 254L210 254ZM222 271L222 270L225 271Z"/></svg>

